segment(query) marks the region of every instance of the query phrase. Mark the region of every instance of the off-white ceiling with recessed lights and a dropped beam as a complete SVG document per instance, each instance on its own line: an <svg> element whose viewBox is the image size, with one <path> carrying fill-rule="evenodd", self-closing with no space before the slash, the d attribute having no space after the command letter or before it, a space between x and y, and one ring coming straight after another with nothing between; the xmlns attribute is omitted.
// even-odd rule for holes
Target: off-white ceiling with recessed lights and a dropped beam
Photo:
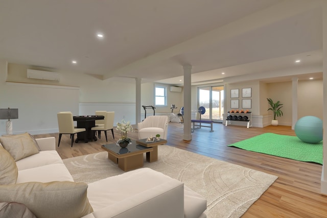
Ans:
<svg viewBox="0 0 327 218"><path fill-rule="evenodd" d="M193 84L271 82L317 72L311 76L322 77L319 4L0 0L0 59L103 80L129 77L174 85L183 84L183 65L192 66ZM301 62L295 64L297 59Z"/></svg>

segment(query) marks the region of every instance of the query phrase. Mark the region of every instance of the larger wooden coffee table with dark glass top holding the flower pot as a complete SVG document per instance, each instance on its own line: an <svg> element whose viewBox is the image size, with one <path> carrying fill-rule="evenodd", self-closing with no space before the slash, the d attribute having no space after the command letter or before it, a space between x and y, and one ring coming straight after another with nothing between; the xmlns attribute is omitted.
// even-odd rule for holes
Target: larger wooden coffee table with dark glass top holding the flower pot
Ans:
<svg viewBox="0 0 327 218"><path fill-rule="evenodd" d="M143 166L143 154L153 152L153 148L140 146L132 140L126 148L121 148L115 143L104 144L101 148L108 152L108 159L118 163L123 171L130 171Z"/></svg>

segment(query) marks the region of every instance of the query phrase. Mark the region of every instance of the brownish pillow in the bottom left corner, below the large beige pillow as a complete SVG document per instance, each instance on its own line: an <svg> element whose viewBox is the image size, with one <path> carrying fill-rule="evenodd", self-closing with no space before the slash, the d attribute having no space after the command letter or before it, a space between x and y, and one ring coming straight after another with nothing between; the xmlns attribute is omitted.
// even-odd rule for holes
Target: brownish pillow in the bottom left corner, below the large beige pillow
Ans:
<svg viewBox="0 0 327 218"><path fill-rule="evenodd" d="M17 202L0 202L0 217L36 218L29 208Z"/></svg>

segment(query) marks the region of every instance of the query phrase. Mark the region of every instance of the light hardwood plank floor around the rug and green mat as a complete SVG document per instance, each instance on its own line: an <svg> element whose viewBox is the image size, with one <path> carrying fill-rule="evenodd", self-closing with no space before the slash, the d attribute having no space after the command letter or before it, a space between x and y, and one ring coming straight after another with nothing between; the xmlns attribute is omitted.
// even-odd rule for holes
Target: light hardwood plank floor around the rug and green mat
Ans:
<svg viewBox="0 0 327 218"><path fill-rule="evenodd" d="M137 139L136 131L128 133L128 136ZM295 136L291 127L246 129L214 124L214 132L209 132L209 128L196 130L192 133L191 141L182 140L182 124L170 123L168 132L167 144L170 146L278 176L242 217L327 217L327 196L320 194L320 164L227 147L228 144L266 132ZM115 139L112 138L111 131L108 131L108 143L116 142L120 136L116 130L114 135ZM35 135L36 138L49 136L55 136L58 143L58 133ZM103 133L101 136L95 142L74 143L71 148L69 135L63 135L57 151L63 159L102 152L101 145L107 142Z"/></svg>

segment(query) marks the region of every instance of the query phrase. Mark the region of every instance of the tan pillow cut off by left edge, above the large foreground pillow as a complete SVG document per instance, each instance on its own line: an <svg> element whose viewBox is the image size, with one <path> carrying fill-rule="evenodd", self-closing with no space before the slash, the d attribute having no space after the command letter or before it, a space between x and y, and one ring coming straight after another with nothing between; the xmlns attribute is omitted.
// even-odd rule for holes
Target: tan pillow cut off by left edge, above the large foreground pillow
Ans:
<svg viewBox="0 0 327 218"><path fill-rule="evenodd" d="M16 162L2 146L0 146L0 172L0 185L16 183L18 177Z"/></svg>

